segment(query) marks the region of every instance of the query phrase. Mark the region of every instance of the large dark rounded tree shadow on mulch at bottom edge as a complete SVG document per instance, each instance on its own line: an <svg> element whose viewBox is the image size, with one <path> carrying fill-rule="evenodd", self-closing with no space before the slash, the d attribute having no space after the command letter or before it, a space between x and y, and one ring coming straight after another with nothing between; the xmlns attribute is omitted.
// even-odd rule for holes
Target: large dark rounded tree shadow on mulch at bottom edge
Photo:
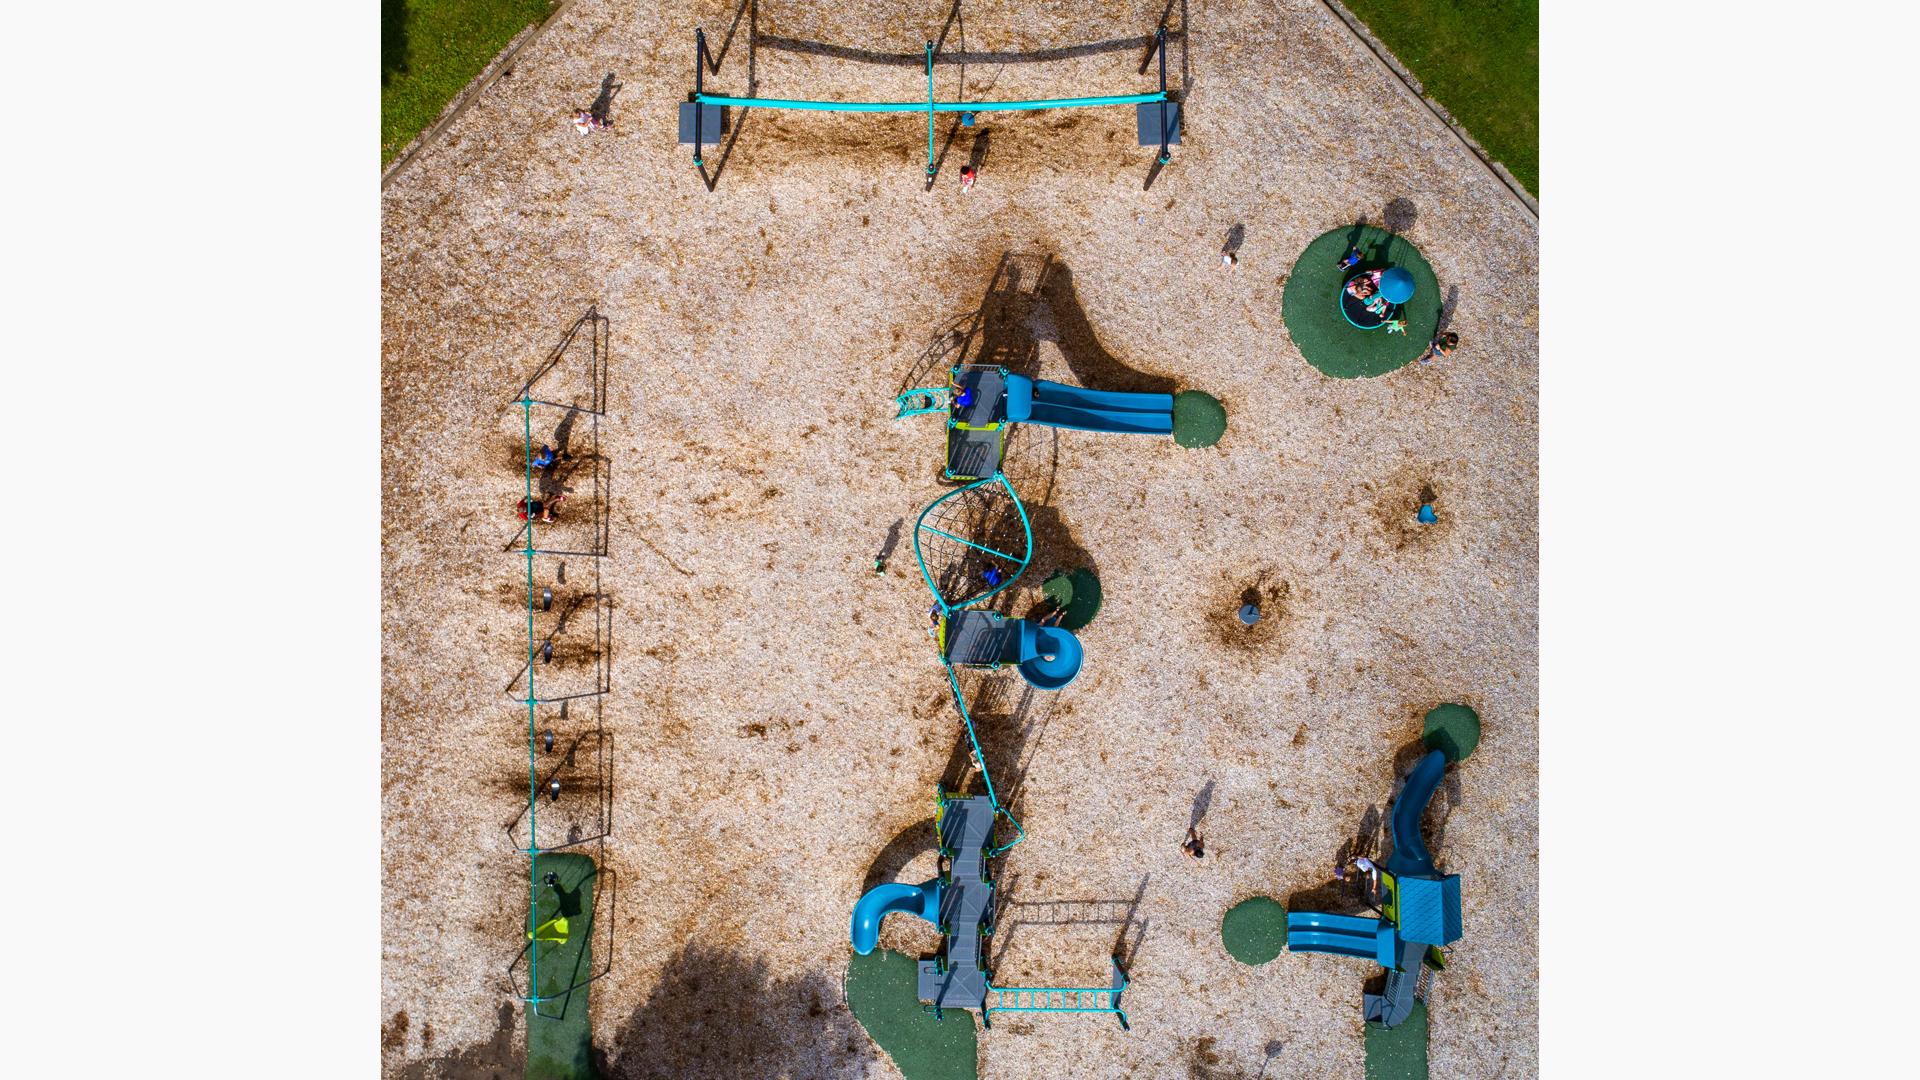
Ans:
<svg viewBox="0 0 1920 1080"><path fill-rule="evenodd" d="M864 1076L877 1057L833 980L770 978L764 959L685 945L595 1065L609 1080L828 1078Z"/></svg>

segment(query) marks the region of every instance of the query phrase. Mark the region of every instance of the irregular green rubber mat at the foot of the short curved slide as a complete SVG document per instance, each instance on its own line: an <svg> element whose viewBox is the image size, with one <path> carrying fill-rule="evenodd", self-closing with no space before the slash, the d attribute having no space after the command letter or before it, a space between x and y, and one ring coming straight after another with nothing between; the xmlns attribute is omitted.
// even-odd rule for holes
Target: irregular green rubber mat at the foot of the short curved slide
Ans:
<svg viewBox="0 0 1920 1080"><path fill-rule="evenodd" d="M979 1045L973 1013L948 1009L939 1020L920 1005L914 959L893 949L854 953L847 1005L906 1080L975 1080Z"/></svg>

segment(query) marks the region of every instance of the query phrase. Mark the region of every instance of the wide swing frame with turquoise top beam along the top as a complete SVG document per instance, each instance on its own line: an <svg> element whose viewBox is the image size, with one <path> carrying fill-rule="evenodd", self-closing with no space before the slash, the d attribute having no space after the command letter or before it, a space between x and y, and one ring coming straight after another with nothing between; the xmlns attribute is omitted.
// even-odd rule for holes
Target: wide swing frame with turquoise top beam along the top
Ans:
<svg viewBox="0 0 1920 1080"><path fill-rule="evenodd" d="M1158 146L1156 165L1173 160L1171 146L1181 142L1181 104L1167 96L1167 29L1158 27L1152 37L1148 61L1160 58L1160 88L1146 94L1104 94L1081 98L1039 98L1023 102L937 102L933 98L933 65L941 60L935 42L925 42L927 100L925 102L822 102L810 98L753 98L707 92L707 67L718 73L720 65L707 50L707 31L693 29L693 92L680 104L680 144L693 148L693 167L705 171L703 146L720 144L728 131L728 108L739 110L801 110L837 113L927 113L927 184L939 175L939 160L933 154L935 113L960 113L962 127L973 127L975 113L983 111L1035 111L1035 110L1073 110L1094 106L1133 106L1135 133L1140 146ZM1140 71L1146 63L1140 65ZM751 90L751 86L749 86Z"/></svg>

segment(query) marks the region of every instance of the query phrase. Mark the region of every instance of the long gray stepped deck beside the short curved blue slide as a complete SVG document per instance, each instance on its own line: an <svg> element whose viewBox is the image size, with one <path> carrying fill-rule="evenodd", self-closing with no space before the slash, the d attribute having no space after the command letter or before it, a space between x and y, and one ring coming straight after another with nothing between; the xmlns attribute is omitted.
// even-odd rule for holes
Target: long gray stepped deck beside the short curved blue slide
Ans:
<svg viewBox="0 0 1920 1080"><path fill-rule="evenodd" d="M981 930L993 926L993 880L987 847L993 844L993 799L948 799L941 813L941 853L948 857L941 926L947 949L941 959L920 961L920 999L943 1009L979 1009L987 1001Z"/></svg>

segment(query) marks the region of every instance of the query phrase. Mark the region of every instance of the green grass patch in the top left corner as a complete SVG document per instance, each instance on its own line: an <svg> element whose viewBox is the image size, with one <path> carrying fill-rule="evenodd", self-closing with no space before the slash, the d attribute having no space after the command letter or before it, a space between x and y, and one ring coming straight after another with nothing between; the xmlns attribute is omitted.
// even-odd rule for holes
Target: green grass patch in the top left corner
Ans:
<svg viewBox="0 0 1920 1080"><path fill-rule="evenodd" d="M380 0L380 167L553 0Z"/></svg>

